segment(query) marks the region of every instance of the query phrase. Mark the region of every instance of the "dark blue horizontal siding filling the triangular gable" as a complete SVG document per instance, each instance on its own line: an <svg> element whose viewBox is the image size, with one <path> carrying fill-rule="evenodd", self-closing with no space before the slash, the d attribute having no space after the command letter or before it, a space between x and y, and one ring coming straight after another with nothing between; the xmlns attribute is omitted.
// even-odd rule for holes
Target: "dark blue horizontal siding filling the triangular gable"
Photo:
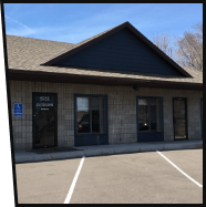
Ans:
<svg viewBox="0 0 206 207"><path fill-rule="evenodd" d="M179 75L125 29L56 64Z"/></svg>

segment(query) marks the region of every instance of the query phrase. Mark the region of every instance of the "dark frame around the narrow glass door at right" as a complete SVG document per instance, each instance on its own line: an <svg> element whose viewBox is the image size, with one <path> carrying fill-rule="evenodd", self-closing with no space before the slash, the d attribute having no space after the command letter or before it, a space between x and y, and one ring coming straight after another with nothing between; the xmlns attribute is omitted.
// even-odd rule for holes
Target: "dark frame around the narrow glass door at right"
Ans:
<svg viewBox="0 0 206 207"><path fill-rule="evenodd" d="M175 118L174 118L174 101L182 99L185 101L185 134L186 138L175 138ZM174 132L174 141L188 141L188 120L187 120L187 97L173 97L173 132Z"/></svg>

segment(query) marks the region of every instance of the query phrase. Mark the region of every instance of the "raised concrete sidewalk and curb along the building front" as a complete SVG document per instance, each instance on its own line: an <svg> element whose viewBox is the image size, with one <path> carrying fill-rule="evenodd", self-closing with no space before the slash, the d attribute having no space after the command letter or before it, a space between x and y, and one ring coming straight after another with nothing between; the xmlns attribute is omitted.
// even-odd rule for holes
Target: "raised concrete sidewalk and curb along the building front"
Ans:
<svg viewBox="0 0 206 207"><path fill-rule="evenodd" d="M28 151L16 151L16 163L44 162L66 158L80 158L91 156L115 155L124 153L138 153L151 151L175 151L175 149L192 149L203 148L203 141L176 141L176 142L161 142L161 143L132 143L132 144L116 144L116 145L95 145L73 147L81 151L58 152L37 154Z"/></svg>

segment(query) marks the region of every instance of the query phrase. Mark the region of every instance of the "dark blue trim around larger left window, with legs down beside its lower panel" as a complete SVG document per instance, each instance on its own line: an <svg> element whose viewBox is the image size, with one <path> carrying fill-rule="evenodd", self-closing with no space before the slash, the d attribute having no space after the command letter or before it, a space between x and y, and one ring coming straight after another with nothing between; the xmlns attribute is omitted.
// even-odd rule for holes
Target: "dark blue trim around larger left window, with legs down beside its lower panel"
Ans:
<svg viewBox="0 0 206 207"><path fill-rule="evenodd" d="M106 104L106 133L105 134L78 134L76 133L76 97L99 97L99 96L104 96L105 97L105 104ZM102 135L102 136L106 136L107 142L106 144L109 144L109 117L107 117L107 95L105 94L79 94L79 93L74 93L73 94L73 103L74 103L74 146L79 146L75 144L75 138L76 137L85 137L85 136L91 136L91 138L93 138L96 135Z"/></svg>

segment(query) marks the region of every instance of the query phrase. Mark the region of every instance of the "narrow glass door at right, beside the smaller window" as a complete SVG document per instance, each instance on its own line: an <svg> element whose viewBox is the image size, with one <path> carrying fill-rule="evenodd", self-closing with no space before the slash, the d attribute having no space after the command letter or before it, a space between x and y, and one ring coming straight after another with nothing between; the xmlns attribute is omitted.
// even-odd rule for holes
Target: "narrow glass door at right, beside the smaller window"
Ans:
<svg viewBox="0 0 206 207"><path fill-rule="evenodd" d="M187 139L187 100L173 99L174 139Z"/></svg>

